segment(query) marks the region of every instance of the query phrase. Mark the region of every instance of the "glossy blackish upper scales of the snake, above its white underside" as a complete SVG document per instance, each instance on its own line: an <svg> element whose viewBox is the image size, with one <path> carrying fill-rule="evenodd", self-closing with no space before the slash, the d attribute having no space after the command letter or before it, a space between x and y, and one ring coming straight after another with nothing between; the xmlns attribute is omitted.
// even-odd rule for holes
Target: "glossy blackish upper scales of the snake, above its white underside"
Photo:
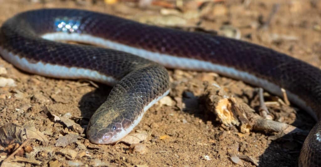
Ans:
<svg viewBox="0 0 321 167"><path fill-rule="evenodd" d="M320 69L283 53L244 41L160 28L97 12L75 9L43 9L20 13L7 20L0 29L0 46L27 58L31 62L42 61L67 67L88 68L108 76L114 76L119 80L126 78L126 76L130 77L131 75L128 75L129 72L145 70L143 66L148 65L146 68L156 68L156 70L153 69L154 72L160 75L155 78L152 75L148 77L152 79L152 83L149 83L149 85L152 86L150 92L153 92L153 94L150 97L161 94L161 92L157 91L168 89L169 81L167 73L165 74L165 69L154 65L148 60L123 52L92 46L61 44L39 38L39 35L48 32L61 31L57 30L54 24L57 18L58 20L67 18L79 23L79 27L74 32L67 33L90 34L135 48L177 57L204 60L247 72L297 95L312 108L318 119L321 117ZM93 60L92 55L97 58ZM135 75L138 74L135 73ZM141 79L126 78L119 86L115 86L111 95L131 99L133 96L128 92L134 90L134 84L143 82ZM161 79L166 79L166 81ZM158 85L161 85L161 87L158 88ZM127 90L127 93L123 95L122 93L125 90ZM110 96L108 97L109 100L111 98ZM104 115L102 113L109 108L106 106L111 105L112 102L108 102L108 99L91 119L89 128L95 129L95 131L100 130L96 135L97 137L106 131L99 127L93 128L92 126L95 124L93 122ZM130 115L130 117L132 115L135 116L136 113L139 113L138 108L141 110L143 105L148 103L148 100L144 102L134 99L134 101L135 104L133 105L139 106L137 108L133 107L135 109L126 106L125 102L119 104L121 107L130 108L131 112L131 114L127 114L129 110L122 112L124 114L122 118L127 115ZM119 109L125 110L124 108L117 108L113 109L113 112ZM117 121L119 122L122 118L117 117ZM116 127L116 125L113 125L108 129L115 129L114 126ZM321 166L321 142L316 139L316 135L320 133L320 126L320 123L316 124L304 143L300 155L300 165L302 166Z"/></svg>

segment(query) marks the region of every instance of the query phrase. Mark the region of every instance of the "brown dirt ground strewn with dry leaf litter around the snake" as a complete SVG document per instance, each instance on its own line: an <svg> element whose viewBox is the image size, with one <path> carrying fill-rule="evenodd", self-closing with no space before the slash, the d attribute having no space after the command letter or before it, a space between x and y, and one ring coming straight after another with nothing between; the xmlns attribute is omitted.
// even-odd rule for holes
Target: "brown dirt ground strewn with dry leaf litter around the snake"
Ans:
<svg viewBox="0 0 321 167"><path fill-rule="evenodd" d="M233 37L238 37L233 32L239 32L241 40L321 67L320 1L148 2L0 0L0 25L30 9L86 9L190 31L215 30ZM261 131L241 133L237 127L222 125L199 98L204 93L203 82L215 80L258 112L257 87L214 73L169 69L171 93L152 106L131 132L148 134L142 145L134 147L134 151L126 143L95 145L86 139L84 129L111 87L25 73L1 58L0 68L7 71L1 76L16 84L0 87L0 126L6 125L0 130L2 166L296 166L304 140L296 135L276 138L275 134ZM267 107L275 121L304 130L312 128L315 121L305 111L287 106L282 98L267 92L264 95L266 102L272 101ZM7 131L17 135L4 140L1 137ZM24 149L8 158L22 143ZM241 155L252 160L237 160Z"/></svg>

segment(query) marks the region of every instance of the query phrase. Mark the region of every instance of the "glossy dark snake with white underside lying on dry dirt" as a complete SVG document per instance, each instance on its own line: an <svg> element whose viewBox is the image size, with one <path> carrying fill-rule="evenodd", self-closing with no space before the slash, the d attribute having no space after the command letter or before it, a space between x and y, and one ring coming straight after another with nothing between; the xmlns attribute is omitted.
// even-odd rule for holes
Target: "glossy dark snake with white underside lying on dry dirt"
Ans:
<svg viewBox="0 0 321 167"><path fill-rule="evenodd" d="M0 28L0 54L30 73L113 86L87 126L94 144L122 139L169 94L166 68L212 71L279 96L285 89L289 100L317 121L303 143L299 166L321 166L321 70L284 53L223 36L57 8L6 20Z"/></svg>

